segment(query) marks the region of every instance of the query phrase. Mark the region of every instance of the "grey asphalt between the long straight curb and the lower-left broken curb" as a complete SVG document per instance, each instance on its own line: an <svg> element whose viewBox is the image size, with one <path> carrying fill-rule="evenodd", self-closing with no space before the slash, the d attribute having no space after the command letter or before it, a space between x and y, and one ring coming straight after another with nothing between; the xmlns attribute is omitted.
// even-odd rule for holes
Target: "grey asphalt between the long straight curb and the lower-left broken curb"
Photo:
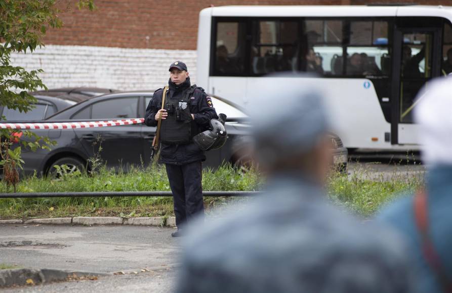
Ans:
<svg viewBox="0 0 452 293"><path fill-rule="evenodd" d="M27 268L116 272L171 265L174 229L140 226L0 225L0 263Z"/></svg>

